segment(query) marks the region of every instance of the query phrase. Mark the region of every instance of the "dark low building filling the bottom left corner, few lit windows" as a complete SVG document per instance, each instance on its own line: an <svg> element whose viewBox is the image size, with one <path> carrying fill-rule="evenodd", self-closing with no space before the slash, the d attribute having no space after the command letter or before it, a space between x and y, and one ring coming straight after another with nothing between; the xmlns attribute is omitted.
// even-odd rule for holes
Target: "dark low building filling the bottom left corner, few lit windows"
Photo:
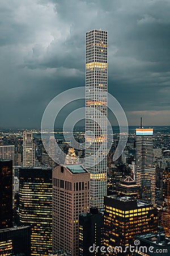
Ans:
<svg viewBox="0 0 170 256"><path fill-rule="evenodd" d="M0 255L30 256L31 228L20 226L0 230Z"/></svg>

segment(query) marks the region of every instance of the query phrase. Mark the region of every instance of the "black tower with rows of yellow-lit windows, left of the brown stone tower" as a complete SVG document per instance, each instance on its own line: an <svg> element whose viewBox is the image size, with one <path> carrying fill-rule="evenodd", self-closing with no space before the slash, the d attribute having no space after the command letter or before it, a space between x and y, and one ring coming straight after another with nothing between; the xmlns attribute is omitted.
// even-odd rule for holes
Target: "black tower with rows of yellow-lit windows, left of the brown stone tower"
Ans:
<svg viewBox="0 0 170 256"><path fill-rule="evenodd" d="M52 169L20 168L19 220L31 226L31 255L52 251Z"/></svg>

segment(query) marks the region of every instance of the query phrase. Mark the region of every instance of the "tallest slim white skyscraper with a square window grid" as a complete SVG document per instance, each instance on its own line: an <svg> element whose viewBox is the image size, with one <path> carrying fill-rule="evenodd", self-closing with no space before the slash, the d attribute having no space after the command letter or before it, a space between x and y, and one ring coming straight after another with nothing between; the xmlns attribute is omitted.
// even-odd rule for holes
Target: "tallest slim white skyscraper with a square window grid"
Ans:
<svg viewBox="0 0 170 256"><path fill-rule="evenodd" d="M103 208L104 196L107 195L107 46L107 31L91 30L86 33L85 166L90 172L92 208ZM99 162L103 155L105 158Z"/></svg>

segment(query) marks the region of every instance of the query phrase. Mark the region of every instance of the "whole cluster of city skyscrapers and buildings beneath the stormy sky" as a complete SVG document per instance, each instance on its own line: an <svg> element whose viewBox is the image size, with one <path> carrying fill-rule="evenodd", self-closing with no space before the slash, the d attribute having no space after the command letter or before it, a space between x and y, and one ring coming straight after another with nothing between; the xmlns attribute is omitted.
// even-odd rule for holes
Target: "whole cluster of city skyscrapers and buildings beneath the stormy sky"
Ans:
<svg viewBox="0 0 170 256"><path fill-rule="evenodd" d="M107 31L87 32L86 134L93 135L86 137L84 164L73 148L63 166L49 162L45 152L49 164L39 164L32 131L23 133L23 154L17 156L22 166L15 166L14 146L0 146L0 255L170 252L170 168L161 172L161 203L153 129L142 123L136 129L135 157L133 150L124 152L122 161L107 157L107 63ZM49 141L56 154L52 145Z"/></svg>

